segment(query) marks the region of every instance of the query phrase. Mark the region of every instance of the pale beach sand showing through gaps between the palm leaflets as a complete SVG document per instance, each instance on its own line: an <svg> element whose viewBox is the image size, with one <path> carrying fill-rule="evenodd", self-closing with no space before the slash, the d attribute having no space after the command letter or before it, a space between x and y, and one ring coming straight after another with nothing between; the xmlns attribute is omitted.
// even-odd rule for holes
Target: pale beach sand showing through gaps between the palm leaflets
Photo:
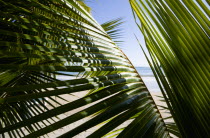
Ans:
<svg viewBox="0 0 210 138"><path fill-rule="evenodd" d="M69 102L71 102L71 101L74 101L74 100L76 100L76 99L79 99L79 98L85 96L86 93L87 93L87 92L84 91L84 92L77 92L77 93L74 93L73 95L69 95L69 94L62 95L62 97L65 98L66 100L68 100L68 102L65 102L65 101L63 101L63 100L61 100L61 99L59 99L59 98L54 98L54 99L55 99L56 101L60 102L61 104L65 104L65 103L69 103ZM151 94L152 94L152 97L153 97L153 99L155 100L155 103L156 103L157 105L162 105L162 106L165 106L165 105L166 105L164 102L161 102L161 101L160 101L161 98L157 97L157 96L161 96L161 95L162 95L160 92L154 92L154 93L151 93ZM50 101L50 100L49 100L49 101ZM52 102L52 101L50 101L50 102ZM53 102L52 102L52 103L53 103ZM93 103L93 104L95 104L95 103ZM59 106L59 105L56 104L56 103L53 103L53 105L56 106L56 107ZM66 118L66 117L68 117L68 116L70 116L70 115L72 115L72 114L75 114L76 112L81 111L81 110L83 110L83 109L85 109L85 108L87 108L87 107L89 107L89 106L91 106L91 105L92 105L92 104L88 104L88 105L83 106L83 107L81 107L81 108L77 108L77 109L75 109L75 110L71 110L70 112L66 112L66 113L64 113L64 114L58 115L57 117L60 118L60 119ZM52 108L50 105L47 105L47 107ZM159 108L159 107L158 107L158 108ZM161 108L159 108L159 109L161 109ZM160 112L161 112L161 115L162 115L163 118L164 118L164 117L167 117L167 116L169 115L169 114L167 113L166 110L162 110L162 109L161 109ZM85 112L83 112L83 113L85 114ZM55 121L58 121L58 120L59 120L58 118L53 117L52 119L54 119ZM70 124L70 125L67 125L67 126L65 126L65 127L62 127L62 128L60 128L60 129L58 129L58 130L56 130L56 131L54 131L54 132L48 133L47 136L48 136L49 138L58 137L58 136L64 134L65 132L68 132L68 131L74 129L75 127L81 125L83 122L86 122L86 121L89 120L89 119L90 119L90 117L86 117L86 118L84 118L84 119L81 119L81 120L79 120L79 121L77 121L77 122L74 122L74 123L72 123L72 124ZM48 120L49 120L49 119L48 119ZM169 121L173 121L173 120L169 120ZM46 124L49 124L47 121L44 121L44 122L45 122ZM53 121L51 120L50 122L53 122ZM125 123L123 123L122 125L120 125L118 128L127 126L130 122L131 122L131 121L125 122ZM44 127L43 124L40 123L40 125ZM80 133L80 134L74 136L73 138L86 138L88 135L90 135L92 132L94 132L95 130L97 130L99 127L100 127L100 126L95 126L95 127L91 128L91 129L88 129L88 130L86 130L86 131L84 131L84 132L82 132L82 133ZM26 132L26 130L24 130L24 129L22 129L22 130L23 130L24 132ZM26 134L27 134L27 133L26 133ZM6 134L6 137L7 137L7 136L8 136L8 134ZM46 135L45 135L45 136L46 136ZM43 137L43 136L42 136L42 137Z"/></svg>

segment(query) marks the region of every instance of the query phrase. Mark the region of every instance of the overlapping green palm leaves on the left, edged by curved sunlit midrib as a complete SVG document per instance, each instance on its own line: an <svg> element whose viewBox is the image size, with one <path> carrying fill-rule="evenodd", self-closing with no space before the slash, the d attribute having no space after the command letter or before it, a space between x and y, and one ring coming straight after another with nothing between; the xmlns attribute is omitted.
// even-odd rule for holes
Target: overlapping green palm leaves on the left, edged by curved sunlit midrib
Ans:
<svg viewBox="0 0 210 138"><path fill-rule="evenodd" d="M1 0L0 9L2 137L45 136L84 118L61 137L102 123L89 137L115 128L118 137L169 137L134 67L76 1ZM126 121L128 127L117 128Z"/></svg>

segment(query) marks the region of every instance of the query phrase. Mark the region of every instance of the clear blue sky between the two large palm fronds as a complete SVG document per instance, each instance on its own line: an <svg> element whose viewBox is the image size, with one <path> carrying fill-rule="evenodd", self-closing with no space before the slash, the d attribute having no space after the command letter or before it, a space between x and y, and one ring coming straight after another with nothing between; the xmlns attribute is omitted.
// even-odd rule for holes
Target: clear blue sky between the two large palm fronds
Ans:
<svg viewBox="0 0 210 138"><path fill-rule="evenodd" d="M129 0L86 0L86 3L92 8L92 15L100 24L122 17L125 21L121 26L124 42L120 48L134 66L149 66L134 36L135 34L138 37L141 45L145 48L144 38L134 21Z"/></svg>

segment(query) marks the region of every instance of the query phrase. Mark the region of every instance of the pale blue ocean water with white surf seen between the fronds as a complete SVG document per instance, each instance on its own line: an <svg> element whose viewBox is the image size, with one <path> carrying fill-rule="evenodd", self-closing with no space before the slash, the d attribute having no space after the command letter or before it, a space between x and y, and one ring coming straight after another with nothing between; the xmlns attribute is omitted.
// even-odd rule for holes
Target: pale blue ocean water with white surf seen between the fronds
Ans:
<svg viewBox="0 0 210 138"><path fill-rule="evenodd" d="M140 74L140 76L142 77L144 83L146 84L150 92L160 92L160 88L155 80L155 77L150 67L135 67L135 68ZM72 74L72 75L77 74L75 72L71 72L71 73L60 72L60 73ZM56 78L59 80L69 80L69 79L72 79L72 76L57 75Z"/></svg>

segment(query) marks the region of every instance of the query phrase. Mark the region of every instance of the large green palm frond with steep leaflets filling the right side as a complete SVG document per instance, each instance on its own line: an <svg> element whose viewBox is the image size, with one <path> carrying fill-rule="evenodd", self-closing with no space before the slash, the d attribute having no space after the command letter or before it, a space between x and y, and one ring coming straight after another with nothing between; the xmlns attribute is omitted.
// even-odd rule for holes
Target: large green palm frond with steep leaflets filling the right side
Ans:
<svg viewBox="0 0 210 138"><path fill-rule="evenodd" d="M200 0L130 4L182 137L209 137L209 5Z"/></svg>

